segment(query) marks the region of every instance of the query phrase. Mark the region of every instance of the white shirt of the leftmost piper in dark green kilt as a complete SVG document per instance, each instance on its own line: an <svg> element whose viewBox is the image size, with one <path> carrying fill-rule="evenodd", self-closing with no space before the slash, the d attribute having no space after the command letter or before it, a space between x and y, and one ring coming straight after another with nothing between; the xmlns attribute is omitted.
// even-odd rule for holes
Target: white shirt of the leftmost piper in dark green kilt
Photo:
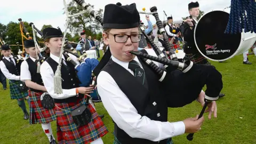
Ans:
<svg viewBox="0 0 256 144"><path fill-rule="evenodd" d="M3 59L6 59L8 61L10 61L10 57L3 57ZM16 62L14 61L13 58L11 58L14 65L16 66ZM1 68L1 71L3 72L4 76L9 79L9 80L15 80L15 81L19 81L20 80L20 76L17 76L17 75L14 75L14 74L11 74L9 72L9 70L6 68L4 62L1 60L0 61L0 68Z"/></svg>

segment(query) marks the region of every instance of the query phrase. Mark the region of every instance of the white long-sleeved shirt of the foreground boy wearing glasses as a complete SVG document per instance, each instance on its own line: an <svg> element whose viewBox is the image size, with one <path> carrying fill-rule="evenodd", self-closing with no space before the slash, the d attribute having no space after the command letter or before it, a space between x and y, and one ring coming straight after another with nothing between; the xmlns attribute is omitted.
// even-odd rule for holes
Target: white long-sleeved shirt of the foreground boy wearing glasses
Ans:
<svg viewBox="0 0 256 144"><path fill-rule="evenodd" d="M129 62L120 61L115 57L112 57L112 60L133 74L128 69ZM139 62L137 57L134 60ZM141 66L140 62L139 64ZM185 133L185 124L183 122L159 122L139 115L130 100L118 87L113 77L106 71L100 72L97 84L104 107L117 126L129 134L130 137L160 141Z"/></svg>

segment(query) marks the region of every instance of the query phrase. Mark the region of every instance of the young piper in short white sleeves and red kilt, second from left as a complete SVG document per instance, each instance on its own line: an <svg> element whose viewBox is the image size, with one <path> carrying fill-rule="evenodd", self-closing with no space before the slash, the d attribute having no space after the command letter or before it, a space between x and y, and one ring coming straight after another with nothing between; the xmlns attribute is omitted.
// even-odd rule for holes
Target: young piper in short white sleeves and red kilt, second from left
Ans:
<svg viewBox="0 0 256 144"><path fill-rule="evenodd" d="M30 98L30 118L29 124L42 124L42 128L50 141L50 144L56 143L52 134L52 121L55 121L55 109L46 109L42 106L41 95L46 92L40 72L37 67L41 65L43 59L37 59L39 49L35 47L33 39L24 41L25 50L29 58L21 63L20 79L29 87ZM40 65L39 65L39 63ZM38 63L38 64L37 64Z"/></svg>

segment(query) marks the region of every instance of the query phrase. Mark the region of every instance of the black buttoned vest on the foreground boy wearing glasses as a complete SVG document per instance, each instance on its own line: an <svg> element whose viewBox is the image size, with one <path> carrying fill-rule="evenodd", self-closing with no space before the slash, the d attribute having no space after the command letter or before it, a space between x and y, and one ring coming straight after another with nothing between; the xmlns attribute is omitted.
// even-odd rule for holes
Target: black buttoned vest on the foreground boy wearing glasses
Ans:
<svg viewBox="0 0 256 144"><path fill-rule="evenodd" d="M106 71L113 77L118 87L125 93L132 105L137 109L138 114L147 116L151 120L167 122L167 104L166 98L161 92L161 83L158 81L154 71L145 65L145 63L141 63L146 73L148 87L136 82L137 79L129 71L118 65L112 59L109 60L102 71ZM116 124L114 124L114 129L116 138L122 144L158 143L146 139L132 138ZM166 143L166 141L167 140L162 140L159 143Z"/></svg>

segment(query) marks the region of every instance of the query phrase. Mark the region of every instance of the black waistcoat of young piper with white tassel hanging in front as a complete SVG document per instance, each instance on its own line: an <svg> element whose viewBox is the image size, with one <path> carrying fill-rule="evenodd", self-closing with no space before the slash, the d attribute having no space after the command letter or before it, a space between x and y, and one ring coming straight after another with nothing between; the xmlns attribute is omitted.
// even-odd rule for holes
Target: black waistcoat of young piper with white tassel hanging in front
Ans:
<svg viewBox="0 0 256 144"><path fill-rule="evenodd" d="M56 61L54 61L51 57L47 58L46 60L49 65L51 66L53 73L57 70L57 66L59 65ZM75 87L79 87L79 79L76 76L75 66L65 61L67 66L62 64L61 65L61 78L62 78L62 89L73 89ZM63 102L75 102L77 97L70 97L67 99L54 99L55 103L63 103Z"/></svg>

